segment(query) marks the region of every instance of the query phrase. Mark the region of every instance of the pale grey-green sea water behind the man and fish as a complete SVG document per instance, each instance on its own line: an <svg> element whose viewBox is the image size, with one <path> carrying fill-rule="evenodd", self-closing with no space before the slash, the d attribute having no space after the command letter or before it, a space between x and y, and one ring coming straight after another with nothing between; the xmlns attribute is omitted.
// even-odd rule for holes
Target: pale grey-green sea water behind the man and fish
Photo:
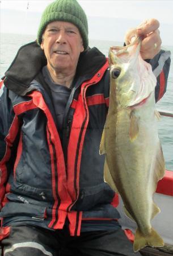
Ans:
<svg viewBox="0 0 173 256"><path fill-rule="evenodd" d="M16 56L18 49L26 43L36 39L35 35L0 34L0 76L2 77ZM111 42L103 40L89 40L90 47L97 47L108 56L109 47L123 46L123 42ZM163 98L157 102L158 110L166 110L173 113L173 46L163 46L164 50L171 51L171 67L168 76L167 91ZM21 71L22 72L22 71ZM2 91L0 90L0 96ZM161 117L158 123L159 138L166 161L166 169L173 171L173 118ZM147 150L147 148L146 148Z"/></svg>

